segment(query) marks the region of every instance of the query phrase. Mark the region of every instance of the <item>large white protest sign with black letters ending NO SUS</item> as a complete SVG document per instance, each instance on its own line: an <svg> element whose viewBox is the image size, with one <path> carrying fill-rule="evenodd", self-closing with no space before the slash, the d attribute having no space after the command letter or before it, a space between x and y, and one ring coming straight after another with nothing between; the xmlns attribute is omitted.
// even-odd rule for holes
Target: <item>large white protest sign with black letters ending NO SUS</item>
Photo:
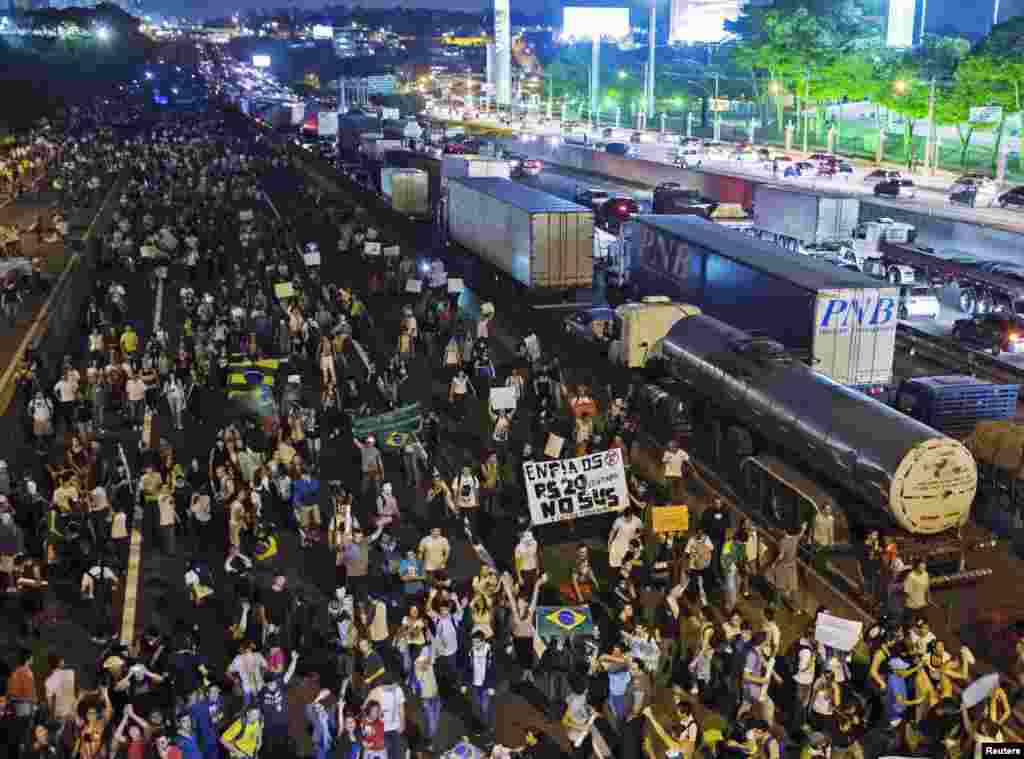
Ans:
<svg viewBox="0 0 1024 759"><path fill-rule="evenodd" d="M626 467L614 449L561 461L522 465L532 523L620 511L629 504Z"/></svg>

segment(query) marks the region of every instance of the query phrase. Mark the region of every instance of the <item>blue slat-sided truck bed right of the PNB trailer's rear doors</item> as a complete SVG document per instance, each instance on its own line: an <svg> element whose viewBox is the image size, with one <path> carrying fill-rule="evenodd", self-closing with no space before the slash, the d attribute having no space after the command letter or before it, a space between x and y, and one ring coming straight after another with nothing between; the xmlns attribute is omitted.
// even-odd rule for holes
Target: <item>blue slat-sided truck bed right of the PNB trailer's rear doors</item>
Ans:
<svg viewBox="0 0 1024 759"><path fill-rule="evenodd" d="M893 405L933 429L964 438L979 422L1013 420L1019 394L1020 385L1000 385L969 375L913 377L896 388Z"/></svg>

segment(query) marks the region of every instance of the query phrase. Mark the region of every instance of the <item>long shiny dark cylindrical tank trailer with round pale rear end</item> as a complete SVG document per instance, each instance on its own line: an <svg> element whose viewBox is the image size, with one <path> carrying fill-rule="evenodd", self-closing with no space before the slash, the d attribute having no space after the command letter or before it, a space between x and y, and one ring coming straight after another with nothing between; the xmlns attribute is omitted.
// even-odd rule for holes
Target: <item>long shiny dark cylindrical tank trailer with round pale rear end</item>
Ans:
<svg viewBox="0 0 1024 759"><path fill-rule="evenodd" d="M781 344L696 315L652 355L692 393L695 434L706 433L716 468L773 521L797 526L831 503L858 532L896 526L927 539L928 555L967 522L978 488L967 448ZM953 550L946 543L938 553Z"/></svg>

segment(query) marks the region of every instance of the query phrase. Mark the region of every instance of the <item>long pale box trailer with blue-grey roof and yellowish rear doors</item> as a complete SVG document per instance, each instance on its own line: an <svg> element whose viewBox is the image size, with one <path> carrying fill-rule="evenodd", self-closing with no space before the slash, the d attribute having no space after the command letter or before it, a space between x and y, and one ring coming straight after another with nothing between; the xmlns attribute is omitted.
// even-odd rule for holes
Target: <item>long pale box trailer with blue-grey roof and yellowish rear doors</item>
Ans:
<svg viewBox="0 0 1024 759"><path fill-rule="evenodd" d="M494 177L447 184L450 240L527 288L589 288L594 212L534 187Z"/></svg>

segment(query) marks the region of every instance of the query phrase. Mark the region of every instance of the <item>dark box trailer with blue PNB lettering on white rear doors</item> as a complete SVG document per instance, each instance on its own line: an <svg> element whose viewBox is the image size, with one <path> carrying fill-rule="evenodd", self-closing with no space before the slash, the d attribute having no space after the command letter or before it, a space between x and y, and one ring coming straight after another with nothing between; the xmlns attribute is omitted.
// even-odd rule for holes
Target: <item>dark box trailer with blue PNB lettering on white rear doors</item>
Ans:
<svg viewBox="0 0 1024 759"><path fill-rule="evenodd" d="M880 396L892 382L899 288L795 256L692 215L636 216L611 279L778 340L836 382Z"/></svg>

